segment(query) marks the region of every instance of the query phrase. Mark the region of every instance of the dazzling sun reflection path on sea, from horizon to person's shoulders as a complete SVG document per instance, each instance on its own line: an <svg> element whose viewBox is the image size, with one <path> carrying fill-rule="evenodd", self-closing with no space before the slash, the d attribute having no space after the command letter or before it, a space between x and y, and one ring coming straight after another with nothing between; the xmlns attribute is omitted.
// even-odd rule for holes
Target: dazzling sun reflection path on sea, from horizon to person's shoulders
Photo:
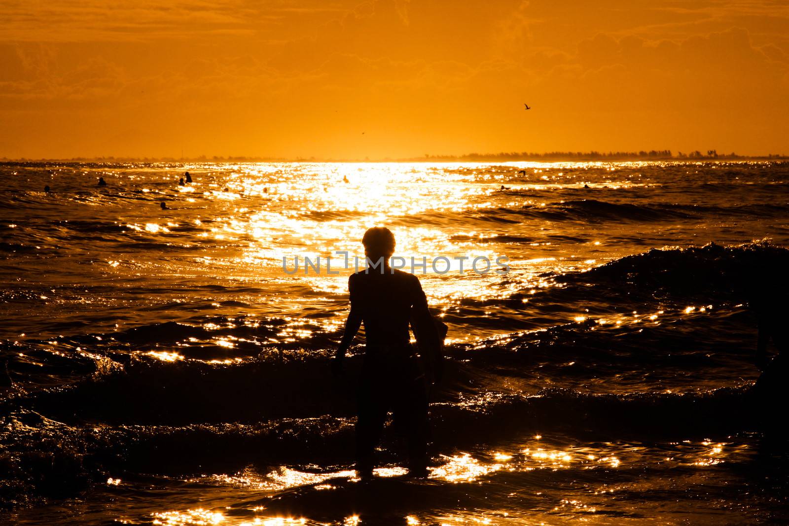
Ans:
<svg viewBox="0 0 789 526"><path fill-rule="evenodd" d="M328 275L323 265L320 274L291 276L282 271L282 258L297 255L326 258L335 251L362 256L360 241L365 229L386 224L398 240L395 256L408 261L411 257L418 261L423 256L450 259L450 274L435 274L431 269L421 279L431 304L455 308L462 316L464 308L460 305L469 298L495 303L510 299L524 289L536 293L537 289L560 286L540 277L545 272L557 268L578 270L603 263L604 256L594 247L605 243L604 237L601 241L590 239L588 243L576 244L573 252L566 252L566 244L549 238L567 232L550 227L550 231L540 233L540 239L532 238L532 233L522 232L532 226L527 224L527 218L521 217L520 211L523 206L551 207L552 191L569 188L568 185L582 186L583 181L604 182L618 188L642 184L624 173L619 175L620 167L627 171L638 168L637 165L618 163L616 166L611 171L608 164L567 162L495 166L464 162L204 163L194 168L211 177L199 177L193 185L178 188L179 193L185 192L179 198L181 201L191 199L190 202L196 203L188 208L174 208L171 214L180 218L179 221L140 218L127 227L135 235L166 244L208 247L200 254L190 254L189 262L193 264L189 274L266 282L267 290L288 292L254 300L256 306L265 304L271 311L279 312L308 308L331 311L332 316L316 322L323 326L324 323L336 325L335 318L344 315L344 311L339 313L338 306L345 301L347 275L353 269L337 266L340 262L334 259L333 268L340 270L338 275ZM518 170L526 170L525 177L511 180ZM592 172L603 178L589 177ZM172 174L163 174L161 180L171 181ZM505 181L511 185L511 191L499 190ZM509 221L506 224L499 222L504 215L512 216L504 218ZM478 256L492 262L499 256L509 257L510 274L506 277L475 274L469 267ZM461 263L455 258L468 258L462 275L458 273ZM117 262L109 264L114 263ZM121 272L131 264L118 263L116 271ZM184 266L171 263L151 264L151 267L163 274L187 272ZM291 290L296 292L290 293ZM528 302L523 298L523 304ZM519 308L527 306L519 305ZM479 317L489 316L485 312ZM334 328L327 326L327 330ZM481 323L472 331L455 331L451 338L456 342L471 341L504 330L511 328ZM223 340L217 345L230 347L231 343L234 342Z"/></svg>

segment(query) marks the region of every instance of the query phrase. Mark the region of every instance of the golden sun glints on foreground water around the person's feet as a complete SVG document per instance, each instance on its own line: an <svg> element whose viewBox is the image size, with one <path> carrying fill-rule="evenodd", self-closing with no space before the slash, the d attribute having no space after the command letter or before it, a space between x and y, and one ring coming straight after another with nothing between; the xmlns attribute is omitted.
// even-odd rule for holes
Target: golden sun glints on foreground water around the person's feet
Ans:
<svg viewBox="0 0 789 526"><path fill-rule="evenodd" d="M651 447L641 444L605 442L595 447L560 445L554 443L554 438L543 438L535 435L525 441L522 446L511 446L508 448L481 451L478 453L457 453L451 456L442 456L442 463L436 468L431 468L429 479L432 483L453 483L453 484L492 484L492 487L500 483L497 479L501 473L512 472L534 472L535 470L546 470L547 472L568 470L628 470L635 466L644 466L645 458L649 458L649 463L664 464L677 463L690 468L712 468L716 464L725 461L727 453L744 453L746 445L731 445L726 442L713 442L704 440L692 442L690 440L675 442L671 447L674 448L672 457L661 459L660 453L653 451ZM731 451L727 451L731 450ZM396 466L378 468L375 475L378 477L402 476L406 470ZM345 479L335 483L330 479ZM319 492L331 491L350 491L347 483L351 483L352 488L357 488L356 484L362 484L360 479L355 478L355 472L327 472L327 473L308 473L299 472L292 468L278 468L265 475L245 470L234 476L210 476L193 479L193 482L220 483L237 490L263 491L266 494L276 494L279 491L286 491L295 487L309 487ZM414 483L414 482L409 482ZM658 482L660 483L660 482ZM555 519L556 513L561 517L578 517L586 520L591 514L598 513L600 506L605 505L606 496L615 494L616 491L626 491L628 482L618 485L603 484L600 487L589 488L584 494L573 497L555 498L550 502L550 507L545 509L548 513L544 519ZM361 487L361 486L360 486ZM495 490L498 491L498 490ZM514 496L518 490L510 496ZM538 491L537 496L543 494ZM595 496L592 502L589 497ZM152 517L159 522L155 524L173 524L191 526L206 524L233 524L251 526L256 525L291 525L291 524L327 524L315 522L308 517L267 517L265 505L256 506L248 509L255 513L256 517L241 519L224 513L222 509L204 509L196 507L185 509L184 511L168 511L155 513ZM513 509L499 510L480 510L480 509L458 509L454 513L438 513L422 516L421 513L410 513L403 517L406 524L524 524L525 516L518 512L512 513ZM567 515L567 513L578 513L578 515ZM305 515L308 516L308 513ZM539 520L539 514L536 516ZM348 514L341 519L342 524L366 524L365 513ZM335 523L331 523L335 524ZM536 523L539 524L539 523Z"/></svg>

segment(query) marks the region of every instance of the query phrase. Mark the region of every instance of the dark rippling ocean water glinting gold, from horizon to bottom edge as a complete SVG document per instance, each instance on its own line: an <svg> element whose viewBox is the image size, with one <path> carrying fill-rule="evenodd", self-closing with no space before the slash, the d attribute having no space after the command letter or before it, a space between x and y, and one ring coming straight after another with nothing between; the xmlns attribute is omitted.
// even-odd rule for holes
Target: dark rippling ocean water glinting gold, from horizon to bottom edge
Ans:
<svg viewBox="0 0 789 526"><path fill-rule="evenodd" d="M0 521L789 520L747 306L787 163L22 163L0 200ZM327 366L376 225L449 326L421 481L391 429L353 478L364 338Z"/></svg>

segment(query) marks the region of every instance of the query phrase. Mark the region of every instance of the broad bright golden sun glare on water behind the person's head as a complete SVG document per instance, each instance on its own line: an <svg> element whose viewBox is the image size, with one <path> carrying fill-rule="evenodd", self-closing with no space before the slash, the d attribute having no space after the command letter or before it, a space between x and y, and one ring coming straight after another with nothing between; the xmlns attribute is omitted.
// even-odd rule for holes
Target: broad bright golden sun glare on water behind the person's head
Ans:
<svg viewBox="0 0 789 526"><path fill-rule="evenodd" d="M279 312L300 310L309 304L326 308L327 304L336 303L338 295L346 293L347 276L357 269L356 258L360 268L364 265L360 241L365 229L386 224L397 238L393 264L405 264L404 270L413 270L420 276L431 304L457 305L466 299L506 300L524 289L537 293L541 289L561 286L552 278L546 278L544 273L563 264L562 258L540 253L542 248L555 250L559 245L554 244L554 247L550 241L526 243L528 240L518 236L501 237L499 223L487 219L478 221L476 228L469 228L465 218L462 228L446 221L425 224L412 219L415 215L457 213L465 216L477 211L495 215L499 207L536 206L540 200L507 198L499 191L497 180L504 172L531 165L538 166L524 162L493 170L490 181L480 181L477 167L464 163L440 166L421 163L201 166L197 170L211 173L215 169L221 175L210 182L199 171L194 172L195 181L187 187L194 189L191 194L196 197L194 205L171 203L173 211L168 211L167 215L172 217L166 221L152 219L129 222L127 226L140 236L155 236L157 242L174 247L183 243L182 233L189 232L190 236L214 243L215 250L211 254L196 253L193 261L200 264L188 270L168 262L146 269L147 263L133 259L113 259L110 264L118 272L147 270L190 281L221 277L250 284L266 282L273 289L288 288L297 280L310 294L298 298L272 295L265 301L277 305ZM545 177L563 179L568 173L573 177L571 172L578 166L586 164L543 164L539 165L539 170ZM288 177L284 177L285 174ZM566 184L551 181L521 184L518 188L540 192L554 182L556 188ZM529 204L531 201L534 203ZM204 207L216 211L204 214ZM593 247L591 242L588 245ZM194 247L193 244L183 246L185 249ZM587 250L592 250L589 247ZM540 252L534 252L538 250ZM347 252L347 261L338 253L341 251ZM574 264L589 267L593 264L589 256L589 253L578 255ZM502 257L509 258L508 275L495 272L500 268L496 262ZM297 272L286 272L296 269L296 258ZM305 258L311 259L312 267L306 266ZM320 263L316 263L318 258ZM327 265L330 258L331 273ZM413 269L412 258L417 265ZM439 259L435 260L434 268L435 258ZM284 269L283 261L286 263ZM426 264L424 270L419 267L421 263ZM485 274L477 274L475 269ZM444 271L446 274L440 273ZM522 303L528 300L523 298ZM316 319L314 324L323 330L336 330L342 321L338 316L330 316ZM288 327L283 327L271 343L293 343L308 336L308 331L315 330L295 325L291 334L288 334ZM491 327L484 334L455 333L451 326L450 338L454 343L462 343L496 332L499 331ZM215 345L227 349L238 343L231 338L215 341Z"/></svg>

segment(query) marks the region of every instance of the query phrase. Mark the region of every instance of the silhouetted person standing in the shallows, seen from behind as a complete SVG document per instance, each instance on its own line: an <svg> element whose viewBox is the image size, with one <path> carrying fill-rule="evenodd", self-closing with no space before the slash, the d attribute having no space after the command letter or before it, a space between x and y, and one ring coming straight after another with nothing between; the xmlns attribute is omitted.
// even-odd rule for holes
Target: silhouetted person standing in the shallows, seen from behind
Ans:
<svg viewBox="0 0 789 526"><path fill-rule="evenodd" d="M372 476L373 453L391 409L395 427L406 435L409 475L425 476L428 460L425 375L439 375L442 340L419 279L389 266L394 253L391 231L383 227L368 229L362 243L371 263L348 279L350 313L332 363L335 374L342 371L346 350L361 323L365 323L365 360L357 382L357 475ZM429 346L436 350L434 356L422 359L417 356L410 344L409 324L420 340L420 349Z"/></svg>

